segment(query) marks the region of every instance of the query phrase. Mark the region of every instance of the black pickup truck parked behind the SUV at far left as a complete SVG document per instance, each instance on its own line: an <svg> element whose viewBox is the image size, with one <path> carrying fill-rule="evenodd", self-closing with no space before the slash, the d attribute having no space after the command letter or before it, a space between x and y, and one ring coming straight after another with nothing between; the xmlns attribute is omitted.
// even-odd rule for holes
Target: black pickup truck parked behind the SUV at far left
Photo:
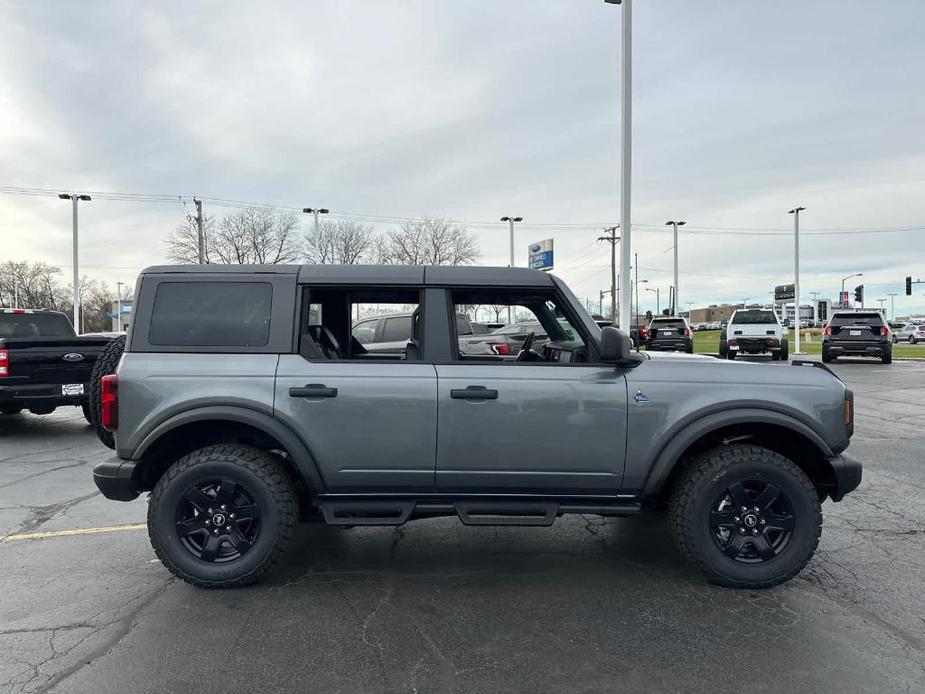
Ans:
<svg viewBox="0 0 925 694"><path fill-rule="evenodd" d="M78 337L57 311L0 309L0 414L82 407L89 421L90 371L108 337Z"/></svg>

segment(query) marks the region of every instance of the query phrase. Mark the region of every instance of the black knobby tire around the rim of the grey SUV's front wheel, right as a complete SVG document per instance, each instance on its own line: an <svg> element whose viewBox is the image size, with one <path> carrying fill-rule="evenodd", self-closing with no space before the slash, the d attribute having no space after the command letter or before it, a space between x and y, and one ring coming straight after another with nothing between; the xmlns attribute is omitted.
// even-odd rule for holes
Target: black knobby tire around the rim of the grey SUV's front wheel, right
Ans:
<svg viewBox="0 0 925 694"><path fill-rule="evenodd" d="M717 546L710 511L728 485L754 479L787 495L795 522L780 554L743 564ZM793 578L813 556L822 533L822 507L809 478L784 456L759 446L721 446L687 464L668 502L668 523L681 553L711 582L731 588L770 588Z"/></svg>

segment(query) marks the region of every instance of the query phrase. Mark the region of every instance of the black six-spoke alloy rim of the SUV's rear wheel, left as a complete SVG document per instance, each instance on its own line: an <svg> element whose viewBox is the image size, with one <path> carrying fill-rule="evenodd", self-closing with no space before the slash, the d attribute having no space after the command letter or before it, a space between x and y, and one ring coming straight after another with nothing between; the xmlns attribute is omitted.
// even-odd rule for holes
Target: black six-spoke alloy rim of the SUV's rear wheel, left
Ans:
<svg viewBox="0 0 925 694"><path fill-rule="evenodd" d="M260 508L237 482L220 478L197 483L177 504L180 544L194 557L223 563L247 554L260 533Z"/></svg>

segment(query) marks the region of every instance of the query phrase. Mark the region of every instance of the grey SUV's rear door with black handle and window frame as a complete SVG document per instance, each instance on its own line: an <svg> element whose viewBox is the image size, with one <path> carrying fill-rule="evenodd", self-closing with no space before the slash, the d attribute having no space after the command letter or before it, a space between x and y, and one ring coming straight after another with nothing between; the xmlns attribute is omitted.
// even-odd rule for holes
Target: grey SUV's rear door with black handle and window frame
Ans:
<svg viewBox="0 0 925 694"><path fill-rule="evenodd" d="M434 365L423 351L404 354L410 331L401 352L370 353L375 345L352 339L350 329L354 315L414 310L421 288L307 285L301 292L299 351L279 358L275 415L302 435L328 492L431 491Z"/></svg>

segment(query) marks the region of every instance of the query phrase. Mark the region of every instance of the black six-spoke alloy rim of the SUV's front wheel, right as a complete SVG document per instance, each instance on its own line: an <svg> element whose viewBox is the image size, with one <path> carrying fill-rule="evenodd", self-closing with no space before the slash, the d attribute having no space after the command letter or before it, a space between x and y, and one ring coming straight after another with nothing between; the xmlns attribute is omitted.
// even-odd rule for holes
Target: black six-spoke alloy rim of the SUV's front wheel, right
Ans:
<svg viewBox="0 0 925 694"><path fill-rule="evenodd" d="M734 482L713 504L710 532L723 554L739 563L769 561L793 536L791 509L787 495L769 482Z"/></svg>

